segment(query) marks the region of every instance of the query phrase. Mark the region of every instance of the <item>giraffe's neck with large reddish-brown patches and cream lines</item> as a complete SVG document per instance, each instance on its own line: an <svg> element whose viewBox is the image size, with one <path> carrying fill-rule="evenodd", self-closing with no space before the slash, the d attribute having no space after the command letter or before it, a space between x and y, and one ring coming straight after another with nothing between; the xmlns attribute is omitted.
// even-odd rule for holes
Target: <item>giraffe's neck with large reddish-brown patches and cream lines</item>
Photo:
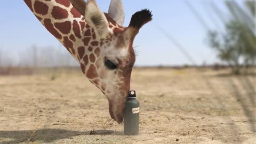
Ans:
<svg viewBox="0 0 256 144"><path fill-rule="evenodd" d="M62 43L79 61L83 57L83 49L89 49L96 39L94 30L87 25L81 15L68 0L25 0L30 10L44 27ZM80 48L79 48L80 47ZM80 52L80 54L79 54Z"/></svg>

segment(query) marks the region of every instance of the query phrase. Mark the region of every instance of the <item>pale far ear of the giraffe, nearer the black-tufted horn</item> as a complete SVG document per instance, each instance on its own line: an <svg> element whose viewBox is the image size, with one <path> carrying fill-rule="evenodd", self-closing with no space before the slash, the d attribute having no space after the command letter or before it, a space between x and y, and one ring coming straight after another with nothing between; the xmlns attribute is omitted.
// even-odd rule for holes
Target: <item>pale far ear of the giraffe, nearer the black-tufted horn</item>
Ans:
<svg viewBox="0 0 256 144"><path fill-rule="evenodd" d="M115 20L119 25L124 23L124 6L122 0L111 0L108 15Z"/></svg>

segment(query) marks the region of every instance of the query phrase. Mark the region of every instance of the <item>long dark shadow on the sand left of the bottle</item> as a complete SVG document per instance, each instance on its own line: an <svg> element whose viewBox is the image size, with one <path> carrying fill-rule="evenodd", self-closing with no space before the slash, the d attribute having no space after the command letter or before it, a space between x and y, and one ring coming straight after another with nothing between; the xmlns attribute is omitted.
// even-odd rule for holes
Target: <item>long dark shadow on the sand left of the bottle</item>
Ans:
<svg viewBox="0 0 256 144"><path fill-rule="evenodd" d="M28 142L30 133L33 131L0 131L0 138L12 139L11 141L1 141L2 144L13 144ZM124 135L121 131L95 130L94 135ZM69 131L59 129L41 129L37 130L30 141L52 142L58 139L68 139L77 135L90 135L91 131Z"/></svg>

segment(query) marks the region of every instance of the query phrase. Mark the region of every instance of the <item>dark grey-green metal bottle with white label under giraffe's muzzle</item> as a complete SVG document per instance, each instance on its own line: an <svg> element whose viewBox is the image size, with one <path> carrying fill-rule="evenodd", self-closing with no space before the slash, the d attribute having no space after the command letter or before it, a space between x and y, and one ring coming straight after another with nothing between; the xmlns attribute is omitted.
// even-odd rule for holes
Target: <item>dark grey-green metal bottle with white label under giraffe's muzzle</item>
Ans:
<svg viewBox="0 0 256 144"><path fill-rule="evenodd" d="M124 108L124 134L137 135L139 133L140 102L136 100L135 91L130 91Z"/></svg>

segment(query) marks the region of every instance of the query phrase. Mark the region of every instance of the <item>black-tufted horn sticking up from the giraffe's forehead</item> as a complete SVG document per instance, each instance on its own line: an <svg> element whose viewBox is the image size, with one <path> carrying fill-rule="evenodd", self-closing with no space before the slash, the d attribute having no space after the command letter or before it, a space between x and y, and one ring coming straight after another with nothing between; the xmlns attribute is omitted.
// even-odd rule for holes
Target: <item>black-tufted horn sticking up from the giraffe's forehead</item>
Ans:
<svg viewBox="0 0 256 144"><path fill-rule="evenodd" d="M152 20L152 14L149 10L141 10L132 15L129 26L124 30L124 39L125 41L130 41L138 33L140 28Z"/></svg>

